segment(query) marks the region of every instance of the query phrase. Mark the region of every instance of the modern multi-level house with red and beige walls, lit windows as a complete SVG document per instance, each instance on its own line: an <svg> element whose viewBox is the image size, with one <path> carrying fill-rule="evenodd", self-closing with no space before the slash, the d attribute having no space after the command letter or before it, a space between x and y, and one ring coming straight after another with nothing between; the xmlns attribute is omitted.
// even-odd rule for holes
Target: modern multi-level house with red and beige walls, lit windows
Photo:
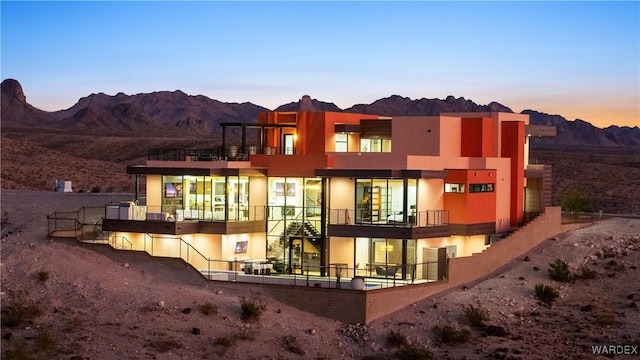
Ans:
<svg viewBox="0 0 640 360"><path fill-rule="evenodd" d="M265 112L221 125L220 148L128 167L144 205L110 205L103 230L165 256L188 245L209 272L259 259L271 274L435 281L447 258L550 205L550 168L528 161L528 138L550 131L524 114Z"/></svg>

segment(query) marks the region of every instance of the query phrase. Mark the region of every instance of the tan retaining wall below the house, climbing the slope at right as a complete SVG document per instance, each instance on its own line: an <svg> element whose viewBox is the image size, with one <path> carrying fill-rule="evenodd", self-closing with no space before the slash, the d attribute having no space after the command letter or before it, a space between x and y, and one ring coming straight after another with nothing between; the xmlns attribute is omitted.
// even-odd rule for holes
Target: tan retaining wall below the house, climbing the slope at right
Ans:
<svg viewBox="0 0 640 360"><path fill-rule="evenodd" d="M345 323L367 324L416 301L461 286L497 272L517 257L557 234L589 225L562 224L559 207L548 207L527 225L498 241L481 253L449 260L449 279L369 291L265 287L278 301L313 314Z"/></svg>

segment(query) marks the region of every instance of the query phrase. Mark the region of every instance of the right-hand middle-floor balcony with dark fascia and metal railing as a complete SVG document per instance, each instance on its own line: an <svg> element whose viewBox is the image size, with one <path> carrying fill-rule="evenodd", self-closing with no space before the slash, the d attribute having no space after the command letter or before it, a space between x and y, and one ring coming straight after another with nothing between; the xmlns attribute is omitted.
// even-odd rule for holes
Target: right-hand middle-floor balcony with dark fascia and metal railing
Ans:
<svg viewBox="0 0 640 360"><path fill-rule="evenodd" d="M329 210L330 236L423 239L451 235L448 210L424 210L404 216L400 212L367 217L352 209Z"/></svg>

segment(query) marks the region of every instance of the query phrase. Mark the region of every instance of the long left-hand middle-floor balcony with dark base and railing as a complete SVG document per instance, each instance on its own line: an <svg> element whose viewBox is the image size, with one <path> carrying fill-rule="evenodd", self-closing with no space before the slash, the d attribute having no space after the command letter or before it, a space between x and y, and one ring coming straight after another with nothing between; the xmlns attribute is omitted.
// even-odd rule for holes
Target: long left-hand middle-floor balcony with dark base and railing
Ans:
<svg viewBox="0 0 640 360"><path fill-rule="evenodd" d="M174 207L140 206L134 203L109 204L102 221L103 231L154 234L242 234L264 232L265 206L214 209L176 209Z"/></svg>

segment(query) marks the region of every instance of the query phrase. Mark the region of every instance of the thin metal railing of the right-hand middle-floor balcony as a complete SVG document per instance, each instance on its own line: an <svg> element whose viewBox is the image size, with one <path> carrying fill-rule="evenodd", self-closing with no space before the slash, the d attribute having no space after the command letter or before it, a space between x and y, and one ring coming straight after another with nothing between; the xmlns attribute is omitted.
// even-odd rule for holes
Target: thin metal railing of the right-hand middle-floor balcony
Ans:
<svg viewBox="0 0 640 360"><path fill-rule="evenodd" d="M366 213L363 210L331 209L330 225L388 225L430 227L449 225L449 210L423 210L404 215L402 212Z"/></svg>

